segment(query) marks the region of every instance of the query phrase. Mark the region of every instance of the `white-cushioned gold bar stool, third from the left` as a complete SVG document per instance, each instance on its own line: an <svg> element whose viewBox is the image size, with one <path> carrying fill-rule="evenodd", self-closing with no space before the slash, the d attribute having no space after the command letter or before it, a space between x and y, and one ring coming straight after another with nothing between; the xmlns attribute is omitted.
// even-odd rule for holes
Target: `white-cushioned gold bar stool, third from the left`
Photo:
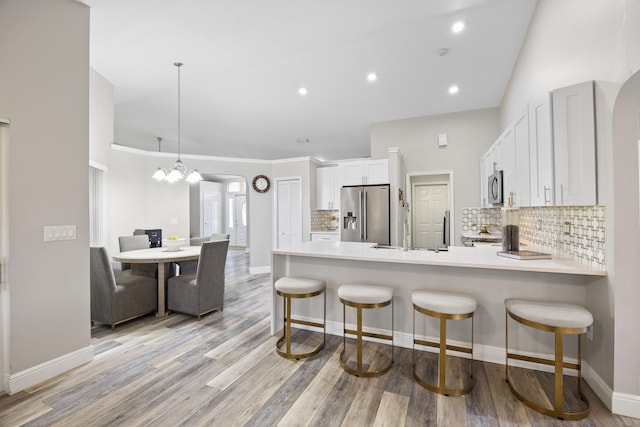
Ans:
<svg viewBox="0 0 640 427"><path fill-rule="evenodd" d="M421 386L435 393L446 396L462 396L469 393L475 385L473 377L473 314L476 300L466 295L427 290L415 290L411 294L413 302L413 376ZM440 319L439 342L416 338L416 312ZM471 346L463 347L447 344L447 320L461 320L471 318ZM438 355L438 383L431 384L418 375L416 364L416 344L439 348ZM447 350L458 351L471 355L469 382L462 388L447 388Z"/></svg>

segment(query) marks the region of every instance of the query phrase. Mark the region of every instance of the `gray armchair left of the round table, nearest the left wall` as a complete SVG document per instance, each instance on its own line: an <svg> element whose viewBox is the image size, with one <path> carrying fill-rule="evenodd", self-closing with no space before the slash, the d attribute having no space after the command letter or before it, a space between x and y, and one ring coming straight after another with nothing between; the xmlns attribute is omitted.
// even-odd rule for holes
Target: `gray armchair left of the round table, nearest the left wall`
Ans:
<svg viewBox="0 0 640 427"><path fill-rule="evenodd" d="M125 275L116 278L104 247L90 248L91 322L111 325L147 313L158 307L158 282L146 276Z"/></svg>

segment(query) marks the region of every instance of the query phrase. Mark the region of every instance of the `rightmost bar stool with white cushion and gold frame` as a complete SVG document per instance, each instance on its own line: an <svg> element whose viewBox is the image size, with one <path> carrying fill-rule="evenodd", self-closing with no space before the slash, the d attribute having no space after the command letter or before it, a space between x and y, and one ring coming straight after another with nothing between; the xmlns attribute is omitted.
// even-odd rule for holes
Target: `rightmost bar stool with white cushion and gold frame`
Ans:
<svg viewBox="0 0 640 427"><path fill-rule="evenodd" d="M589 402L582 393L582 335L593 323L592 314L584 307L576 304L566 304L546 301L530 301L524 299L508 298L504 301L505 329L506 329L506 353L505 366L506 380L514 396L522 403L542 414L557 417L563 420L580 420L589 414ZM509 317L515 321L539 329L553 332L555 335L555 357L543 359L509 352ZM564 336L578 335L578 361L569 363L564 361ZM509 378L509 359L524 360L554 366L554 396L553 408L541 406L520 394ZM575 369L578 373L578 395L585 402L585 408L575 412L564 410L564 378L563 368Z"/></svg>

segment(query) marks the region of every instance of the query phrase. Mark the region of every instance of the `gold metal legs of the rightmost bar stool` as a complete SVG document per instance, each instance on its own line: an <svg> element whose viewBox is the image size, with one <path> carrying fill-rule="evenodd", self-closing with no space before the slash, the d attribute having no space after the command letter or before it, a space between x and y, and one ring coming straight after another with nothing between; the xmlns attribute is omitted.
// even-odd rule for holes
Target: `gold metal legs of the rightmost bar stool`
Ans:
<svg viewBox="0 0 640 427"><path fill-rule="evenodd" d="M547 332L553 332L555 337L555 354L554 359L543 359L539 357L526 356L518 353L509 352L509 317L518 323L539 329ZM561 420L581 420L589 415L589 401L582 392L582 335L584 330L576 328L559 328L541 323L533 322L531 320L519 317L509 310L505 310L505 333L506 333L506 353L507 363L505 365L506 382L509 385L509 389L513 395L529 408L540 412L541 414L548 415L550 417L559 418ZM569 363L564 361L564 335L578 335L578 363ZM553 408L544 407L522 395L516 390L513 381L509 376L509 359L522 360L526 362L539 363L542 365L550 365L554 367L554 396L553 396ZM578 373L578 396L585 403L585 408L579 411L565 411L563 399L564 399L564 369L574 369Z"/></svg>

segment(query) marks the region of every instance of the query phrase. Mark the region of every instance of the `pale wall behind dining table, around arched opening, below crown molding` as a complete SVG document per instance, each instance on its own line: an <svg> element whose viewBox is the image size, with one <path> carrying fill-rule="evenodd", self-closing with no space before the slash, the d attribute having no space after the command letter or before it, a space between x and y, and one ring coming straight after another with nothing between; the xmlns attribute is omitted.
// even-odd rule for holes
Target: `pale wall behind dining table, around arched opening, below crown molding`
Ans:
<svg viewBox="0 0 640 427"><path fill-rule="evenodd" d="M223 159L182 155L182 161L202 174L236 175L247 180L259 174L272 178L269 161ZM112 149L109 167L110 248L117 250L117 237L134 228L162 228L163 236L188 236L190 232L189 184L159 183L151 175L159 165L170 165L175 155L133 149ZM273 179L272 179L273 180ZM268 268L271 251L273 190L259 194L249 189L250 267ZM126 206L126 209L122 209ZM177 220L177 224L172 223Z"/></svg>

